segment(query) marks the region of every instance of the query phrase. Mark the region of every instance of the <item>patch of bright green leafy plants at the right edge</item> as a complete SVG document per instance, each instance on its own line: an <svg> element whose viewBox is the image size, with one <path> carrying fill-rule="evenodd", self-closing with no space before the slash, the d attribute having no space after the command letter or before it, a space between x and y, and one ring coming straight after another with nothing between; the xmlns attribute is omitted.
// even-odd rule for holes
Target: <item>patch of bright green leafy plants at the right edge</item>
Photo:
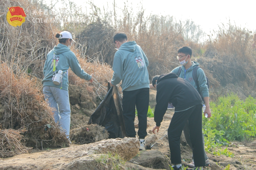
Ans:
<svg viewBox="0 0 256 170"><path fill-rule="evenodd" d="M229 141L243 141L256 135L256 99L242 101L235 94L219 97L211 103L212 117L203 117L205 150L213 155L234 156L226 147Z"/></svg>

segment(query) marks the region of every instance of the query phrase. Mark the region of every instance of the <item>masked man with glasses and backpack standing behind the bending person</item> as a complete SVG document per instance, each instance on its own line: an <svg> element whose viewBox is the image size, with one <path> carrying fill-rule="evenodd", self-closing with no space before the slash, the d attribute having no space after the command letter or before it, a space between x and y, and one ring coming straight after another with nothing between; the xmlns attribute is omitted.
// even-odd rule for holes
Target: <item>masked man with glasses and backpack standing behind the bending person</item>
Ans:
<svg viewBox="0 0 256 170"><path fill-rule="evenodd" d="M208 117L211 117L211 110L210 110L210 104L209 104L209 89L206 85L206 82L207 82L206 77L205 77L204 71L201 68L198 68L197 76L198 76L199 87L197 87L197 83L193 79L192 72L193 72L193 69L199 65L199 63L196 61L191 61L191 57L192 57L192 49L190 47L183 46L179 48L178 56L176 58L179 60L181 66L174 68L171 72L178 75L179 69L181 67L181 72L180 72L180 75L178 76L188 81L195 89L197 89L197 91L201 92L205 102L205 106L206 106L204 115L207 113ZM187 144L190 146L190 148L192 148L192 143L189 138L188 121L183 129L183 132L184 132ZM203 144L204 144L204 134L202 133L202 135L203 135ZM204 156L205 156L206 166L210 166L210 161L205 151L204 151ZM189 163L188 166L191 168L195 167L193 156L192 156L192 162Z"/></svg>

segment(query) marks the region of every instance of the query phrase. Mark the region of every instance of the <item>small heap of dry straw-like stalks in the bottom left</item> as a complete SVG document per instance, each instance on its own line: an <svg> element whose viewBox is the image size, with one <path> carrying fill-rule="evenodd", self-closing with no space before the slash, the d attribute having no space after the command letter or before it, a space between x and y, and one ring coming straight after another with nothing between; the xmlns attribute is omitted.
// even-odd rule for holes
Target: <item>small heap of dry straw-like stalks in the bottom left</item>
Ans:
<svg viewBox="0 0 256 170"><path fill-rule="evenodd" d="M23 136L24 130L0 129L0 157L10 157L23 153L30 153L32 148L26 147Z"/></svg>

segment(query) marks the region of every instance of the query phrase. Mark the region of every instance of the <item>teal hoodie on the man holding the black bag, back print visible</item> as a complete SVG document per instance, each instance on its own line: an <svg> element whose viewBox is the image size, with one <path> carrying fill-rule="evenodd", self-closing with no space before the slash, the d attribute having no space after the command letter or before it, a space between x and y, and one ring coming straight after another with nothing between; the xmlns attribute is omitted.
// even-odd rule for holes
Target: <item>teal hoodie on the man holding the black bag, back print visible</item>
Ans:
<svg viewBox="0 0 256 170"><path fill-rule="evenodd" d="M122 80L122 91L149 88L148 65L148 58L135 41L123 43L114 56L111 84Z"/></svg>

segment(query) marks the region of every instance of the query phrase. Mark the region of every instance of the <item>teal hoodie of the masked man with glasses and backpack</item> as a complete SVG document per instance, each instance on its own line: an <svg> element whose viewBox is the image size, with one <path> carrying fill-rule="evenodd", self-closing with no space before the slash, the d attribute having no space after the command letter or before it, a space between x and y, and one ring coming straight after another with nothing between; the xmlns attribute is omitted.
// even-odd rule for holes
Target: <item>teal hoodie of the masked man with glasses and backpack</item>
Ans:
<svg viewBox="0 0 256 170"><path fill-rule="evenodd" d="M193 69L197 65L199 65L198 62L192 61L191 67L186 70L186 77L185 77L185 67L183 65L181 65L179 67L176 67L171 72L177 74L178 71L179 71L179 68L181 67L181 72L180 72L179 77L183 78L183 79L186 78L185 80L188 81L192 86L194 86L195 89L197 89L196 82L194 81L193 75L192 75ZM198 84L200 86L200 92L202 93L203 97L209 97L209 90L208 90L208 87L206 85L205 74L204 74L204 71L201 68L198 68L198 70L197 70L197 77L198 77Z"/></svg>

